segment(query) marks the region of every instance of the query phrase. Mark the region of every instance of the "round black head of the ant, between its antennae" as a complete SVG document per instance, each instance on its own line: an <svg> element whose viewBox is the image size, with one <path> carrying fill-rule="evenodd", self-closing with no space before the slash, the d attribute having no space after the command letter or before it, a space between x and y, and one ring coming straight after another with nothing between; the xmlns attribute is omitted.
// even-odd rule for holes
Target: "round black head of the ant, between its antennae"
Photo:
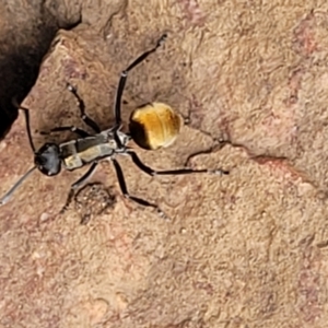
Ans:
<svg viewBox="0 0 328 328"><path fill-rule="evenodd" d="M45 143L34 157L36 167L45 175L57 175L61 168L60 150L56 143Z"/></svg>

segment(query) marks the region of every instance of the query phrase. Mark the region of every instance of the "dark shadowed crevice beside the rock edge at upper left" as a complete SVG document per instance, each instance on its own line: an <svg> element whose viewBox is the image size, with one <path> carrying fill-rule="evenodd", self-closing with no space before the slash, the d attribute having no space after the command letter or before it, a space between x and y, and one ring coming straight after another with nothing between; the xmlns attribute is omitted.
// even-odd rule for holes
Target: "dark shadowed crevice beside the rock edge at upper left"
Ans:
<svg viewBox="0 0 328 328"><path fill-rule="evenodd" d="M15 17L12 17L14 21ZM33 20L33 17L31 17ZM37 19L34 19L34 22ZM80 22L80 20L79 20ZM35 24L8 26L8 33L0 39L0 140L17 118L17 109L12 104L23 102L35 84L44 56L59 28L70 30L79 24L58 24L56 17L43 12ZM8 22L9 24L11 22ZM28 22L27 22L28 23ZM61 26L59 26L61 25Z"/></svg>

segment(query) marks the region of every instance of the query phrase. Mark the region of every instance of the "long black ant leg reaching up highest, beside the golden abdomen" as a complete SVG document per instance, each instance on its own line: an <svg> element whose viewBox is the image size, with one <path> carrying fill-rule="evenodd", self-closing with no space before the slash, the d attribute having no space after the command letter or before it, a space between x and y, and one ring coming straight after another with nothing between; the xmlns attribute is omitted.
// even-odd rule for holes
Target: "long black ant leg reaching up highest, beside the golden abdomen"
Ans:
<svg viewBox="0 0 328 328"><path fill-rule="evenodd" d="M163 34L161 36L161 38L157 40L155 47L153 47L152 49L150 49L150 50L143 52L142 55L140 55L127 69L125 69L120 73L120 79L119 79L117 93L116 93L116 101L115 101L115 119L116 119L115 128L116 129L119 128L120 122L121 122L121 118L120 118L121 96L122 96L122 92L124 92L125 86L126 86L126 82L127 82L129 71L132 70L140 62L142 62L149 55L156 51L156 49L165 42L166 37L167 37L167 35Z"/></svg>

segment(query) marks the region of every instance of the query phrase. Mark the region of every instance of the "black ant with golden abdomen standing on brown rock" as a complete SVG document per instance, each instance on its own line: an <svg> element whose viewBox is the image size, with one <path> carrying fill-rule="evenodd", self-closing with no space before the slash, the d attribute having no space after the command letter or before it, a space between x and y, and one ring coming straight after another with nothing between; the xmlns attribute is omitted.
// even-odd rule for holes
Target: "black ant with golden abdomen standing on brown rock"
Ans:
<svg viewBox="0 0 328 328"><path fill-rule="evenodd" d="M12 194L36 168L47 176L55 176L60 173L61 166L68 171L73 171L91 164L86 173L71 185L70 194L72 194L92 176L98 163L102 160L107 159L114 164L120 190L126 198L141 206L154 208L161 216L167 218L157 204L129 194L124 172L116 159L116 155L130 156L132 162L141 171L151 176L184 175L194 173L229 174L229 172L222 169L192 169L187 167L179 169L155 171L143 164L137 153L127 145L132 139L139 147L148 150L168 147L178 136L183 125L183 119L180 116L168 105L162 103L150 103L134 109L130 116L130 131L128 133L121 131L121 97L128 73L144 59L147 59L149 55L155 52L155 50L164 43L165 39L166 34L162 35L152 49L140 55L128 68L121 72L116 92L115 124L109 129L102 131L98 125L86 115L83 99L78 94L77 89L68 83L68 90L78 101L81 119L94 131L94 133L90 134L89 132L74 126L55 127L46 133L49 134L51 132L72 131L78 136L78 139L69 140L62 143L48 142L45 143L39 150L36 150L31 133L28 109L19 107L19 109L21 109L25 116L27 137L31 149L34 153L34 166L30 168L0 199L0 206L9 201Z"/></svg>

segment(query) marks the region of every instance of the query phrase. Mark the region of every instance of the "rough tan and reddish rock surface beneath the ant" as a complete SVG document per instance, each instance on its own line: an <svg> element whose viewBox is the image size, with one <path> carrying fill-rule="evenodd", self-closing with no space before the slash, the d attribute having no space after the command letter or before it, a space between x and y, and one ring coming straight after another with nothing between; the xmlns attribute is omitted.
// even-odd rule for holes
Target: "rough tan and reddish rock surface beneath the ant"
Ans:
<svg viewBox="0 0 328 328"><path fill-rule="evenodd" d="M223 139L191 164L231 174L151 178L122 157L131 194L167 222L124 199L105 162L91 183L116 202L81 225L80 207L59 211L85 169L35 173L0 209L0 327L327 327L326 1L54 3L59 27L80 24L57 33L23 102L38 147L37 131L83 126L67 81L108 127L120 71L166 32L129 75L124 119L157 99L191 124L138 153L178 167ZM2 195L33 162L22 115L0 162Z"/></svg>

